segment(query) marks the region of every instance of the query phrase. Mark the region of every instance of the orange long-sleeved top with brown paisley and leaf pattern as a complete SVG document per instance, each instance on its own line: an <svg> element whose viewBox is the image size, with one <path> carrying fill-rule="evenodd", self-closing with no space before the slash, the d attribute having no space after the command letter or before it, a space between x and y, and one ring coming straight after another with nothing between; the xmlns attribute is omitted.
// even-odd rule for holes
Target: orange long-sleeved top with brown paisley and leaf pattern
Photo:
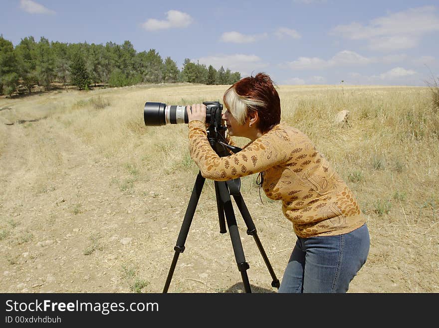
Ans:
<svg viewBox="0 0 439 328"><path fill-rule="evenodd" d="M301 131L280 123L236 154L219 157L201 121L189 122L192 159L207 179L225 181L264 172L268 198L282 201L285 217L302 238L351 232L364 223L346 183Z"/></svg>

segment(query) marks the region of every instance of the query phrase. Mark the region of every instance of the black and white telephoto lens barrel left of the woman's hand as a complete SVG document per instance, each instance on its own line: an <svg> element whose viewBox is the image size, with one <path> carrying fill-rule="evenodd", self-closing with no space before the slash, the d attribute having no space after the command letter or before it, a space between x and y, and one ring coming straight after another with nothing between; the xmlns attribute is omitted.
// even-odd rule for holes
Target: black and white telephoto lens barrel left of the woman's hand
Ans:
<svg viewBox="0 0 439 328"><path fill-rule="evenodd" d="M186 106L167 105L162 102L146 102L143 119L147 126L188 123Z"/></svg>

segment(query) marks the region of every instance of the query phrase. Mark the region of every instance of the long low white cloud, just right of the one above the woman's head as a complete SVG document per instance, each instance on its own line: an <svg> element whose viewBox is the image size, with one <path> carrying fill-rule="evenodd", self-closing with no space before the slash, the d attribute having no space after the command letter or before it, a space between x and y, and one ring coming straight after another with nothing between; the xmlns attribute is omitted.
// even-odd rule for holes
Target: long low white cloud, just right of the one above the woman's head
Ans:
<svg viewBox="0 0 439 328"><path fill-rule="evenodd" d="M367 58L354 51L343 50L329 60L318 57L299 57L297 60L287 62L286 65L292 69L322 69L335 66L365 65L375 61L375 58Z"/></svg>

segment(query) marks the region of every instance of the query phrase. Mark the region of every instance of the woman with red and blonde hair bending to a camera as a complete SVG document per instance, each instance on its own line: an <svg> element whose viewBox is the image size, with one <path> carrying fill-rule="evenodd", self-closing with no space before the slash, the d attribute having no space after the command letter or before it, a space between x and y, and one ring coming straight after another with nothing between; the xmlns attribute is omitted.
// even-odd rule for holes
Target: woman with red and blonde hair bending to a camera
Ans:
<svg viewBox="0 0 439 328"><path fill-rule="evenodd" d="M242 78L223 96L229 136L251 140L219 157L206 132L206 106L188 110L192 159L203 177L230 180L261 172L262 188L281 200L297 241L279 293L345 293L369 253L369 231L352 191L301 131L280 123L271 78ZM228 139L229 140L229 139Z"/></svg>

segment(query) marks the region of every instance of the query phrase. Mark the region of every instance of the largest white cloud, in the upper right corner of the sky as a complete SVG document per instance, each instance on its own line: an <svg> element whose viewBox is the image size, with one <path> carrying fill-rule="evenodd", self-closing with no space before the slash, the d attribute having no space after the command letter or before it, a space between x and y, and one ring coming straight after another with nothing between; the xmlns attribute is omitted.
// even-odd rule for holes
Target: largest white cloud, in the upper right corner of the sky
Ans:
<svg viewBox="0 0 439 328"><path fill-rule="evenodd" d="M435 31L439 31L436 7L423 6L373 19L367 25L358 22L338 25L331 34L367 40L372 50L392 51L416 47L424 34Z"/></svg>

